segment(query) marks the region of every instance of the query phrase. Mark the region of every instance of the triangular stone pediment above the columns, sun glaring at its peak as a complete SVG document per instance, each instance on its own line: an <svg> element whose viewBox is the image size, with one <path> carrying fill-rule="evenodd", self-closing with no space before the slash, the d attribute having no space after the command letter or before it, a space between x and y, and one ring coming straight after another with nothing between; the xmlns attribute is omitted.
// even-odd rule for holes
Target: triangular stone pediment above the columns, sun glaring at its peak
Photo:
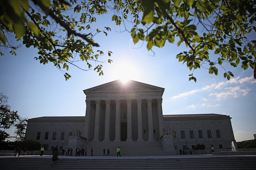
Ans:
<svg viewBox="0 0 256 170"><path fill-rule="evenodd" d="M141 82L136 82L134 80L128 80L127 82L115 80L103 85L98 85L93 88L88 88L84 90L84 93L106 91L164 91L164 88L160 88L154 85L149 85Z"/></svg>

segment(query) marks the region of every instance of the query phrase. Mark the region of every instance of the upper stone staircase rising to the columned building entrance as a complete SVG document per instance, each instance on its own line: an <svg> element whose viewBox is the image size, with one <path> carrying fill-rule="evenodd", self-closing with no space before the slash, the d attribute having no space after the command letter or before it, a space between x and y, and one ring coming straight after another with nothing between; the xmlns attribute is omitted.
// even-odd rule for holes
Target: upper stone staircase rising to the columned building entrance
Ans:
<svg viewBox="0 0 256 170"><path fill-rule="evenodd" d="M91 155L91 148L93 155L103 155L103 149L109 149L109 155L117 155L116 149L120 148L121 156L140 156L140 155L176 155L170 152L165 152L159 141L104 141L95 142L89 141L82 148L87 148L87 155ZM80 147L81 148L81 147ZM74 148L73 148L74 149ZM107 152L106 152L107 153Z"/></svg>

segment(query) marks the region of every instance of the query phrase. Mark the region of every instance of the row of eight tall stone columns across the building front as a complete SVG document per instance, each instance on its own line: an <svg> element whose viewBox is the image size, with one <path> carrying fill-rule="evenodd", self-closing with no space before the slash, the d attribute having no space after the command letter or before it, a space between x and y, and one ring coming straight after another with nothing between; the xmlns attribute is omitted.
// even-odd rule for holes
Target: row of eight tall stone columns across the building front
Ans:
<svg viewBox="0 0 256 170"><path fill-rule="evenodd" d="M110 116L110 103L111 100L106 101L106 116L105 116L105 136L103 141L109 141L109 116ZM120 103L121 100L116 101L116 136L114 141L120 141ZM127 140L132 141L132 125L131 125L131 99L127 99ZM99 141L99 123L100 123L100 100L95 100L96 110L95 110L95 122L94 122L94 139L93 141ZM141 109L142 99L137 99L137 126L138 126L138 138L137 141L143 141L143 131L142 131L142 109ZM159 135L162 136L162 98L157 99L158 103L158 126ZM90 106L91 100L86 100L86 115L85 115L85 137L89 136L89 121L90 121ZM148 130L149 130L149 141L153 141L153 115L152 115L152 99L147 99L147 113L148 113Z"/></svg>

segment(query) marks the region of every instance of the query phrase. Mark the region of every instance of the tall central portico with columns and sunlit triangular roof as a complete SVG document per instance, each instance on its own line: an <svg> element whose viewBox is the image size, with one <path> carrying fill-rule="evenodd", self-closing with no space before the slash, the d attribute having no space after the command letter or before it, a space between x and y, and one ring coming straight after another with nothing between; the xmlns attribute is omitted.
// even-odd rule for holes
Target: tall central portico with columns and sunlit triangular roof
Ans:
<svg viewBox="0 0 256 170"><path fill-rule="evenodd" d="M162 136L164 88L120 80L84 90L87 141L155 141Z"/></svg>

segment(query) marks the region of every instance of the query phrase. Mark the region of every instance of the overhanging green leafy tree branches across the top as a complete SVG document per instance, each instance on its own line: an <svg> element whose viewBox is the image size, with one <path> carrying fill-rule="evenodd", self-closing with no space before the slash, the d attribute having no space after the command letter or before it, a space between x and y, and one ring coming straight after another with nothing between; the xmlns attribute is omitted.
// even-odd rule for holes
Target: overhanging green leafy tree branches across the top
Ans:
<svg viewBox="0 0 256 170"><path fill-rule="evenodd" d="M256 40L250 37L255 36L252 30L256 31L254 0L0 0L0 4L0 46L16 55L22 45L9 41L9 35L15 35L18 42L38 50L36 60L53 63L66 80L71 77L69 65L78 67L76 61L87 64L87 69L79 69L94 67L99 75L103 75L103 63L112 62L112 52L95 51L100 42L94 41L94 36L107 36L111 28L90 29L97 15L110 12L116 25L132 19L132 28L125 29L134 44L147 43L147 50L162 48L165 43L184 43L187 51L176 58L192 71L189 80L196 82L193 73L198 68L215 75L223 68L229 80L234 75L223 63L244 70L255 68ZM71 10L77 18L69 17ZM105 54L108 58L101 58Z"/></svg>

